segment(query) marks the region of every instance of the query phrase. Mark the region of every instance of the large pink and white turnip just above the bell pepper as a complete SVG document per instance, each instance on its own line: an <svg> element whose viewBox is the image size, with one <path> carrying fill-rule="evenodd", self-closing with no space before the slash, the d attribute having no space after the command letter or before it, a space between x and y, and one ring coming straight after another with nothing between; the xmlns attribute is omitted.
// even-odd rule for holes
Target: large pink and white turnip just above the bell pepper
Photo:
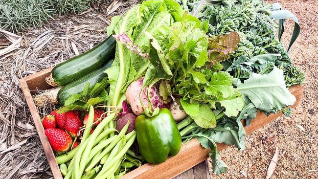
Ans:
<svg viewBox="0 0 318 179"><path fill-rule="evenodd" d="M141 106L140 100L139 100L139 94L142 90L142 84L143 84L143 78L138 79L137 81L133 82L129 85L129 87L126 90L126 99L127 102L132 107L132 111L136 115L140 115L144 109ZM142 91L141 94L141 100L145 107L149 107L149 102L147 98L147 90L148 86ZM169 103L165 102L161 96L159 95L159 90L157 87L152 86L149 92L150 96L150 102L151 102L151 110L155 110L156 108L168 108Z"/></svg>

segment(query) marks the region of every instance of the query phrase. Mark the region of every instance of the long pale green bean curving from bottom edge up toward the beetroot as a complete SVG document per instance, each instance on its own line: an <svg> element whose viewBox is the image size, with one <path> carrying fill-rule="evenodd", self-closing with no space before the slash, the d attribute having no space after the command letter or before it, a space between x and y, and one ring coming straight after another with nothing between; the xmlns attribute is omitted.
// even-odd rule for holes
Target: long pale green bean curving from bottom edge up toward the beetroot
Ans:
<svg viewBox="0 0 318 179"><path fill-rule="evenodd" d="M82 151L81 153L80 150L78 151L79 155L75 155L75 162L74 162L74 179L80 179L80 177L82 176L82 173L84 171L84 168L86 166L87 163L87 158L88 155L83 155L82 153L84 152L84 154L90 154L91 153L91 148L93 147L94 144L94 140L96 139L96 137L102 132L102 130L104 129L105 125L107 125L115 116L115 112L109 114L107 117L105 117L99 124L98 126L95 128L94 132L91 134L91 138L88 140L88 143L86 146L83 146L83 148L85 148L84 151Z"/></svg>

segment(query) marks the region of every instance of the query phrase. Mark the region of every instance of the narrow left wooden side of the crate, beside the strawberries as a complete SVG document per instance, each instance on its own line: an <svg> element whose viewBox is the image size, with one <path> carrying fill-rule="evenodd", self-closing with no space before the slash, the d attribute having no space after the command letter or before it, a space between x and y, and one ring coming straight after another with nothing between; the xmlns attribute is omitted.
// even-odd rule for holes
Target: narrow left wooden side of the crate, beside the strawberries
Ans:
<svg viewBox="0 0 318 179"><path fill-rule="evenodd" d="M31 112L31 115L32 115L32 118L33 118L33 121L35 124L35 128L39 134L39 138L40 138L40 141L42 143L43 150L44 150L45 156L47 158L48 164L51 168L52 174L53 174L55 179L63 179L61 172L60 172L60 169L59 169L59 166L55 160L52 148L51 148L51 146L50 146L50 144L45 136L44 128L42 126L41 117L40 117L39 112L38 112L38 110L33 102L32 95L30 93L28 85L24 79L20 80L20 84L21 84L21 88L22 88L23 93L24 93L25 100L26 100L27 105L30 109L30 112Z"/></svg>

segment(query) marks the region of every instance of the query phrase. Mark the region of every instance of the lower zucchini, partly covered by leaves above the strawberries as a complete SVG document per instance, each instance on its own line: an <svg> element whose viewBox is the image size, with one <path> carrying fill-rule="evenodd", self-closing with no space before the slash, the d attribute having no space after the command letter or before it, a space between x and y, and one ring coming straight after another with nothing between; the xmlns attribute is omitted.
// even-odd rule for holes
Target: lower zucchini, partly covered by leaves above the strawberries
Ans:
<svg viewBox="0 0 318 179"><path fill-rule="evenodd" d="M84 90L87 83L90 83L90 87L94 86L96 83L101 82L104 78L107 78L107 74L104 72L106 69L112 67L114 60L109 61L104 67L100 67L91 73L82 76L80 79L69 83L68 85L62 87L57 93L57 101L60 105L64 106L65 100L71 94L78 94ZM97 94L98 95L98 94Z"/></svg>

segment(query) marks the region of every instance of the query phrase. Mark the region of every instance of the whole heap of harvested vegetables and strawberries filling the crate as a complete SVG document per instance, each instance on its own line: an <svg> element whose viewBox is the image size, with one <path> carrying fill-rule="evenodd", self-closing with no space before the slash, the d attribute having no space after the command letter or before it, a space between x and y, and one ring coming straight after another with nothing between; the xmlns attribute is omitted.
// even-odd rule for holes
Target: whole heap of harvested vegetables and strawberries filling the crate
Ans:
<svg viewBox="0 0 318 179"><path fill-rule="evenodd" d="M63 86L54 91L57 100L50 100L61 108L43 122L46 128L65 116L62 124L61 119L56 122L67 133L56 125L45 129L65 178L119 177L133 169L124 165L126 155L133 161L142 158L139 165L161 163L194 137L211 149L213 173L221 174L227 165L215 142L244 150L242 119L249 125L257 110L291 114L288 106L295 96L287 86L302 83L303 75L274 37L270 6L260 1L203 2L182 1L185 9L192 7L189 13L173 0L143 1L112 18L109 37L100 45L53 68L46 81ZM228 28L219 25L223 21L237 23ZM296 73L289 74L291 68ZM286 84L288 77L293 80ZM38 95L34 100L41 99ZM93 107L106 112L98 116ZM85 114L88 108L82 128L76 112ZM103 133L110 138L100 137ZM61 145L60 135L63 145L55 146ZM126 154L135 137L135 151Z"/></svg>

